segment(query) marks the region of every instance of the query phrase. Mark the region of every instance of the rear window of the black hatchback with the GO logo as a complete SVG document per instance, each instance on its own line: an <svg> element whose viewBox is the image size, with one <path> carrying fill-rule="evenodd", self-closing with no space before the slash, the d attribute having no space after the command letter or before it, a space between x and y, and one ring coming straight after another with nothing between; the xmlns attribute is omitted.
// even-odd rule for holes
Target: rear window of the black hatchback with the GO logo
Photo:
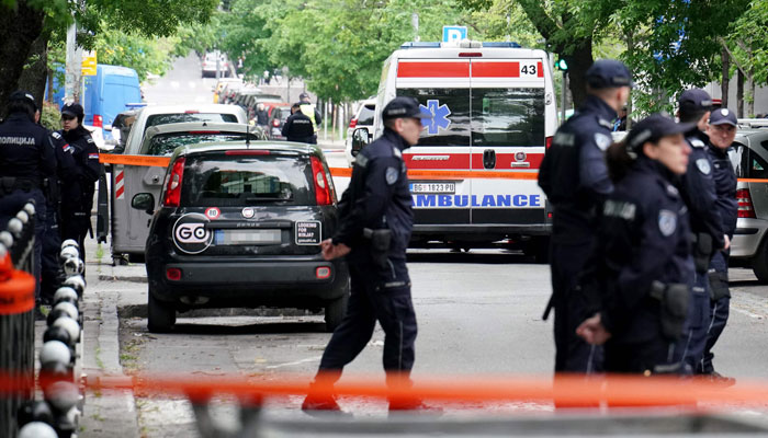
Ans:
<svg viewBox="0 0 768 438"><path fill-rule="evenodd" d="M314 205L312 165L296 155L206 154L187 159L182 205L252 207Z"/></svg>

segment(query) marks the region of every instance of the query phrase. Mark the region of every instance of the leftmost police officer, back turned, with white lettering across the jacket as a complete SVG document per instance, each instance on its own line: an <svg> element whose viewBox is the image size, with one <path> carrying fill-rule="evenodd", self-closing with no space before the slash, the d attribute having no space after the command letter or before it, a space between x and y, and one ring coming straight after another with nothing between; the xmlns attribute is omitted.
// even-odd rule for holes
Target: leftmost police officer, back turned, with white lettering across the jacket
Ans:
<svg viewBox="0 0 768 438"><path fill-rule="evenodd" d="M4 230L30 199L35 203L34 275L39 302L41 256L46 223L43 180L56 170L53 139L35 124L37 105L32 94L15 91L8 102L8 117L0 124L0 230Z"/></svg>

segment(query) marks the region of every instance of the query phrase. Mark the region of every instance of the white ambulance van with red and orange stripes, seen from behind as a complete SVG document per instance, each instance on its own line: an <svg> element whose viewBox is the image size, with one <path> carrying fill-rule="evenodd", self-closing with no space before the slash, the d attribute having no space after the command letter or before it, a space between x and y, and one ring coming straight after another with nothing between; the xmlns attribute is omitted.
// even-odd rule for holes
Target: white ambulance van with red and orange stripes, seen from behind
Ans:
<svg viewBox="0 0 768 438"><path fill-rule="evenodd" d="M406 43L384 62L376 107L413 96L433 118L404 152L411 244L509 240L545 257L551 218L537 184L557 128L547 55L517 43ZM383 131L380 112L374 138Z"/></svg>

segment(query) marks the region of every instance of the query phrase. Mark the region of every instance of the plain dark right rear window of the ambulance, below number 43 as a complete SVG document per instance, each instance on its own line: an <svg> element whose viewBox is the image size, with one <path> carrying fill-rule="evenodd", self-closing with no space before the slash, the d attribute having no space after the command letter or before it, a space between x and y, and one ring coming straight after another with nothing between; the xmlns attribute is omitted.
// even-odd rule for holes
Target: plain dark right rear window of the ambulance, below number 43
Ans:
<svg viewBox="0 0 768 438"><path fill-rule="evenodd" d="M472 146L544 146L544 89L473 89Z"/></svg>

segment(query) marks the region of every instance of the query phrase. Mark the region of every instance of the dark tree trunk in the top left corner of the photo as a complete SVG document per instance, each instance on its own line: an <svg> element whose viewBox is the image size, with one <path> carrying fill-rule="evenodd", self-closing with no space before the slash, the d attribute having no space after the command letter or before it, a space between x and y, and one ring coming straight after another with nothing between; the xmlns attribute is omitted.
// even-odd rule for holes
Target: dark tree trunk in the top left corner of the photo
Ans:
<svg viewBox="0 0 768 438"><path fill-rule="evenodd" d="M0 102L16 89L32 43L43 30L43 11L19 0L16 9L0 5Z"/></svg>

